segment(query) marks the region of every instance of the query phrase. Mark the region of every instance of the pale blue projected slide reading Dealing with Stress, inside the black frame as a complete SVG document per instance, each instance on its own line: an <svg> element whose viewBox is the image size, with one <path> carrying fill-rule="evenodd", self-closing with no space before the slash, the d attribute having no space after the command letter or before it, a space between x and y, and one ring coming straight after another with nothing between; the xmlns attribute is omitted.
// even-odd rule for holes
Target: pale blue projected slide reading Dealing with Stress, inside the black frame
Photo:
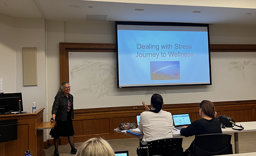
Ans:
<svg viewBox="0 0 256 156"><path fill-rule="evenodd" d="M210 84L207 27L120 25L119 87Z"/></svg>

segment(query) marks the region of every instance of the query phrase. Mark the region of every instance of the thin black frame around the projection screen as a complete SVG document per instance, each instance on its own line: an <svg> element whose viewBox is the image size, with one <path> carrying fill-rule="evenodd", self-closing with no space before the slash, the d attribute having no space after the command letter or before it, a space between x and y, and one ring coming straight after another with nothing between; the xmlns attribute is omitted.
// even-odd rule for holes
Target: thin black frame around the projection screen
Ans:
<svg viewBox="0 0 256 156"><path fill-rule="evenodd" d="M186 83L186 84L141 84L141 85L119 85L119 65L118 65L118 25L152 25L152 26L191 26L191 27L207 27L208 34L208 58L209 58L209 83ZM211 71L211 54L210 54L210 32L209 24L197 24L197 23L176 23L176 22L129 22L129 21L116 21L116 74L117 74L117 88L141 88L141 87L170 87L170 86L198 86L198 85L212 85L212 71Z"/></svg>

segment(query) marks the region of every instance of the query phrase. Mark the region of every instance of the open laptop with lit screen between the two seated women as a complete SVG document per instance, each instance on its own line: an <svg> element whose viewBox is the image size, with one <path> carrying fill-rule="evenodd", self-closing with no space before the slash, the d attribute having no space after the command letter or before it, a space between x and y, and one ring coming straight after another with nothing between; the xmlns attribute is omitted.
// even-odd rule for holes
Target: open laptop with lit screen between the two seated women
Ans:
<svg viewBox="0 0 256 156"><path fill-rule="evenodd" d="M174 127L181 130L183 126L191 124L191 120L188 113L172 114Z"/></svg>

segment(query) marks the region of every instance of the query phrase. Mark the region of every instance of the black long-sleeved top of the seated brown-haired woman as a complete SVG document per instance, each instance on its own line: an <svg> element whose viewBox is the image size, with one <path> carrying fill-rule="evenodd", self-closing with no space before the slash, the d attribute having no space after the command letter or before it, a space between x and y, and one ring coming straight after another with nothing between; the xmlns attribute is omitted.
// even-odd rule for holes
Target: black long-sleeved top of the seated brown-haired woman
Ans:
<svg viewBox="0 0 256 156"><path fill-rule="evenodd" d="M213 117L211 120L202 118L193 121L187 128L182 128L180 130L180 135L185 137L212 133L222 133L220 122L216 117Z"/></svg>

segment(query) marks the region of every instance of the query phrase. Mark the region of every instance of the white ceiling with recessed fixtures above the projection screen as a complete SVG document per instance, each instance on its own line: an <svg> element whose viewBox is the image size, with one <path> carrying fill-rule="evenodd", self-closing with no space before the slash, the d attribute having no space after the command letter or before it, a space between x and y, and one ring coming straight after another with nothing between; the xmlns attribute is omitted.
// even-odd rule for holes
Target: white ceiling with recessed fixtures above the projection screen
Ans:
<svg viewBox="0 0 256 156"><path fill-rule="evenodd" d="M122 1L124 0L119 0ZM207 4L192 6L192 0L185 1L189 1L190 4L184 5L184 1L183 4L181 1L172 5L168 3L171 0L151 0L149 1L151 4L145 4L146 0L137 0L138 3L135 3L135 0L130 0L133 3L129 0L125 1L126 3L85 0L0 0L0 13L12 17L60 21L150 21L256 26L255 0L240 0L243 5L236 3L233 7L229 5L230 0L222 0L221 2L227 2L222 4L218 4L220 1L216 0L215 6ZM237 0L233 1L237 2ZM152 4L153 2L155 4ZM247 5L244 2L248 2ZM134 9L144 9L144 11L134 11ZM197 12L193 13L193 11Z"/></svg>

